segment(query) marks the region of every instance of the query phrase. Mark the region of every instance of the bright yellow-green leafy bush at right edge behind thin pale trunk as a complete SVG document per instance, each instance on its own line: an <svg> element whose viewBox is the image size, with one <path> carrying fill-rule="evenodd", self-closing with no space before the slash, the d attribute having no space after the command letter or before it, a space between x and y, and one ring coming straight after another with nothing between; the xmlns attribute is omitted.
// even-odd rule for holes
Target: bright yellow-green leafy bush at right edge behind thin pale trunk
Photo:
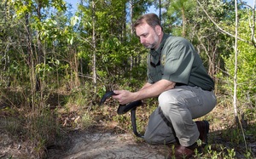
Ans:
<svg viewBox="0 0 256 159"><path fill-rule="evenodd" d="M248 25L246 21L241 20L241 25L245 26ZM241 30L244 31L244 30ZM248 34L249 32L247 32ZM241 33L241 36L244 33ZM238 72L237 72L237 96L238 99L242 99L241 102L246 102L245 105L254 105L255 106L255 77L256 77L256 70L255 70L255 62L256 62L256 51L255 48L244 42L238 43ZM226 70L229 72L228 84L225 85L226 89L233 91L233 88L230 87L230 84L233 83L234 77L234 70L235 70L235 57L234 54L230 54L229 57L224 58L226 64Z"/></svg>

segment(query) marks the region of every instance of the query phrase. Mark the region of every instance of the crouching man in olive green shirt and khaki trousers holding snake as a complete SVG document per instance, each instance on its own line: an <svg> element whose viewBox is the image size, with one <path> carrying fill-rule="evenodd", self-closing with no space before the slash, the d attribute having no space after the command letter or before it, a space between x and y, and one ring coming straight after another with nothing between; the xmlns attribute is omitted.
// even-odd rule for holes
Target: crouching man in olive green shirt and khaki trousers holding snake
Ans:
<svg viewBox="0 0 256 159"><path fill-rule="evenodd" d="M137 92L115 90L113 99L125 105L135 100L158 97L159 106L149 117L144 139L149 144L177 141L177 158L194 154L196 141L207 142L206 115L216 105L214 82L202 65L195 48L183 37L163 32L156 14L144 14L134 24L137 37L149 48L148 82Z"/></svg>

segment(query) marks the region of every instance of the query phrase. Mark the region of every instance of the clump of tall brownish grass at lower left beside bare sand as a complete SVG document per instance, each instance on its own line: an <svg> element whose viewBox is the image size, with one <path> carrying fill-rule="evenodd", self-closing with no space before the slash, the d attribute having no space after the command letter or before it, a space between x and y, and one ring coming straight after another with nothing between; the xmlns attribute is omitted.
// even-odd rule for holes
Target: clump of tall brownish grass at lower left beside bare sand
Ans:
<svg viewBox="0 0 256 159"><path fill-rule="evenodd" d="M49 109L42 110L37 115L28 109L17 110L13 108L12 111L13 114L1 116L2 130L15 139L15 142L26 142L30 154L22 154L22 157L44 157L46 147L54 145L55 137L59 133L60 127L55 114Z"/></svg>

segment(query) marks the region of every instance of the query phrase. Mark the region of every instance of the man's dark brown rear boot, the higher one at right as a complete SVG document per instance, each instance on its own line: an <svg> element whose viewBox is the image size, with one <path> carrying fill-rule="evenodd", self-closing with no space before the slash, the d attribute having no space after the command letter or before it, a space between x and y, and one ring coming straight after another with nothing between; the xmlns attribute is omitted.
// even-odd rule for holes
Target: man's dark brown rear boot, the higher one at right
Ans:
<svg viewBox="0 0 256 159"><path fill-rule="evenodd" d="M207 144L207 134L209 133L209 122L207 122L207 121L197 121L195 123L196 123L198 131L200 133L199 139L201 139L201 141L204 144Z"/></svg>

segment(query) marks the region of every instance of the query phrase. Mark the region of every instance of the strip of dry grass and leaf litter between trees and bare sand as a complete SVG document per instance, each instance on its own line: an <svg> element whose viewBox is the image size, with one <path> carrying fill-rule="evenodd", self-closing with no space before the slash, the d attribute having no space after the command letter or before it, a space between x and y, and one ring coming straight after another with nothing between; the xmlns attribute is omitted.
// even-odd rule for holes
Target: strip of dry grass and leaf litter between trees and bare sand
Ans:
<svg viewBox="0 0 256 159"><path fill-rule="evenodd" d="M93 95L86 91L76 91L73 94L49 94L44 109L37 111L36 114L29 109L29 105L24 105L26 102L19 106L10 105L11 102L8 102L7 106L0 109L2 120L0 126L17 141L16 144L26 141L22 144L26 145L26 150L21 148L25 153L20 156L30 154L32 158L44 157L45 150L55 145L58 136L63 133L67 135L73 130L97 129L99 127L96 126L100 124L101 128L103 126L103 129L113 130L115 133L132 133L130 113L119 116L116 112L118 103L109 99L105 105L98 106L99 99L92 101L92 97ZM22 99L22 96L16 95L15 102L12 103L17 103L17 99ZM137 108L138 132L144 132L148 118L156 106L156 99L148 99L144 101L143 107ZM240 117L244 126L243 131L241 127L236 127L233 106L229 98L218 97L216 108L207 116L196 119L210 122L210 146L207 147L205 157L229 158L234 156L234 153L237 158L255 157L256 150L253 145L256 142L255 111L249 110L244 105L239 108L239 112L243 112L243 116ZM96 129L94 131L97 131ZM143 140L137 139L137 142ZM197 155L201 156L201 154Z"/></svg>

